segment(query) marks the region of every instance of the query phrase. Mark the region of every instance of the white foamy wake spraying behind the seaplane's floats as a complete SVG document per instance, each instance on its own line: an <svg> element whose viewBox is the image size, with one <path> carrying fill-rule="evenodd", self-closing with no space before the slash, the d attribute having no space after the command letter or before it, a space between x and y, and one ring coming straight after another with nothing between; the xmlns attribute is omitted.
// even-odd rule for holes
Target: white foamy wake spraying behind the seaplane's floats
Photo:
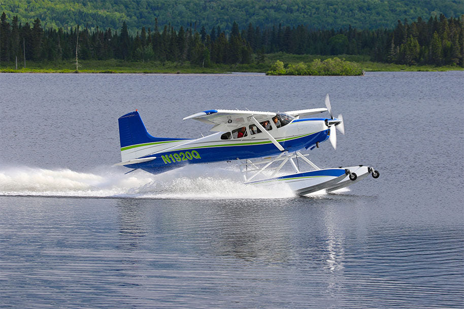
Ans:
<svg viewBox="0 0 464 309"><path fill-rule="evenodd" d="M237 170L186 166L159 175L127 169L98 168L82 173L68 168L9 167L0 170L0 195L119 197L164 199L288 198L285 185L244 185Z"/></svg>

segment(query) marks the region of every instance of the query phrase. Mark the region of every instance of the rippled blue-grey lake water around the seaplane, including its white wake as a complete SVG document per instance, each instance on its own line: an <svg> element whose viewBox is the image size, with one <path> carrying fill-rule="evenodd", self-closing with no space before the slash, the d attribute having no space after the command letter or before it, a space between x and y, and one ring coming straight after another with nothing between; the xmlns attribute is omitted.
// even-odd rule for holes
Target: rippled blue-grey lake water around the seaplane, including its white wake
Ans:
<svg viewBox="0 0 464 309"><path fill-rule="evenodd" d="M464 72L364 77L0 74L2 308L464 307ZM337 194L241 184L235 163L124 175L117 118L197 138L209 109L324 107Z"/></svg>

